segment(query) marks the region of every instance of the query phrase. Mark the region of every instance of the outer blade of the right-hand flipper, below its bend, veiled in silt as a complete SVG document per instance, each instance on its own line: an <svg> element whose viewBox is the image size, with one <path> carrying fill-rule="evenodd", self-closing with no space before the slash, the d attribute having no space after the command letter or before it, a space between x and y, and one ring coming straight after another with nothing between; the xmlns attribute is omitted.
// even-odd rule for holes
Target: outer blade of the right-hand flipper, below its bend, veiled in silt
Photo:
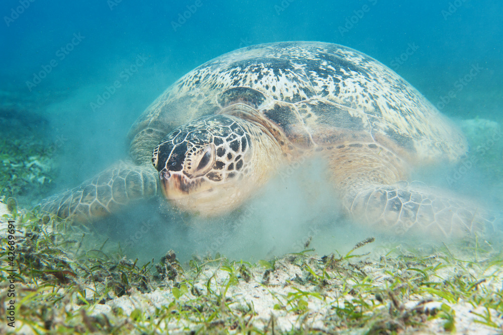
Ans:
<svg viewBox="0 0 503 335"><path fill-rule="evenodd" d="M345 204L358 220L380 230L436 240L494 231L496 220L483 208L404 181L361 187L347 194Z"/></svg>

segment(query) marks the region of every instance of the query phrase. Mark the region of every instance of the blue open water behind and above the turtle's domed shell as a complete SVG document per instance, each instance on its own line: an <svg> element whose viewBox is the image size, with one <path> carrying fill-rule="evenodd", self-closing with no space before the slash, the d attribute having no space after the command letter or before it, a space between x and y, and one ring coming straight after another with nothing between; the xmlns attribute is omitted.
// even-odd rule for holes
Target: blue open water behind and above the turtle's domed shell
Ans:
<svg viewBox="0 0 503 335"><path fill-rule="evenodd" d="M63 139L59 188L124 158L130 125L176 79L252 44L346 45L394 69L455 119L503 119L499 1L4 0L0 16L0 90L8 93L0 99L31 101L49 121L41 131ZM460 86L474 66L480 70ZM106 103L93 107L107 89Z"/></svg>

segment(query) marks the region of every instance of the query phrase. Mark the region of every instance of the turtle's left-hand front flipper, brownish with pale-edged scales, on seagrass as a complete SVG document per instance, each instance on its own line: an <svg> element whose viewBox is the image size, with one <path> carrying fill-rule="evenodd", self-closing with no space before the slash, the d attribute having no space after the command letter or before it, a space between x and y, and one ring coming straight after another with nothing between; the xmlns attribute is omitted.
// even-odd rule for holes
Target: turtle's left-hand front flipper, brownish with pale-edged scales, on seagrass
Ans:
<svg viewBox="0 0 503 335"><path fill-rule="evenodd" d="M155 196L158 175L152 166L120 162L79 186L40 202L43 211L60 218L93 220L135 200Z"/></svg>

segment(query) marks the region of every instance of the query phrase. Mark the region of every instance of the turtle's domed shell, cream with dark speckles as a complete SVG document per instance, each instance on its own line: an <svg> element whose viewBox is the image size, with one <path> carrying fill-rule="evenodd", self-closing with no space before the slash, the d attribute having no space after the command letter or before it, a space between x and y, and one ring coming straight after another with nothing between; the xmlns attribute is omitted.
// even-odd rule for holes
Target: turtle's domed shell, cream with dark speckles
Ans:
<svg viewBox="0 0 503 335"><path fill-rule="evenodd" d="M460 131L394 71L321 42L260 44L210 60L148 106L129 136L167 134L234 103L253 107L303 150L375 142L409 161L457 160L467 151Z"/></svg>

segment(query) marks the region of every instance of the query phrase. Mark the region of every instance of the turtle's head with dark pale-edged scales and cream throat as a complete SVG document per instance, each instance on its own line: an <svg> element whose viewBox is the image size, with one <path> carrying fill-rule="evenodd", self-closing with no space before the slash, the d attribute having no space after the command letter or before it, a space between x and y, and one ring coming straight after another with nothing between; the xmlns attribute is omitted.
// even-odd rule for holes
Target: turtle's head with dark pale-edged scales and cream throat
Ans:
<svg viewBox="0 0 503 335"><path fill-rule="evenodd" d="M172 131L152 154L164 196L184 210L209 215L230 210L247 196L253 160L245 122L226 115Z"/></svg>

